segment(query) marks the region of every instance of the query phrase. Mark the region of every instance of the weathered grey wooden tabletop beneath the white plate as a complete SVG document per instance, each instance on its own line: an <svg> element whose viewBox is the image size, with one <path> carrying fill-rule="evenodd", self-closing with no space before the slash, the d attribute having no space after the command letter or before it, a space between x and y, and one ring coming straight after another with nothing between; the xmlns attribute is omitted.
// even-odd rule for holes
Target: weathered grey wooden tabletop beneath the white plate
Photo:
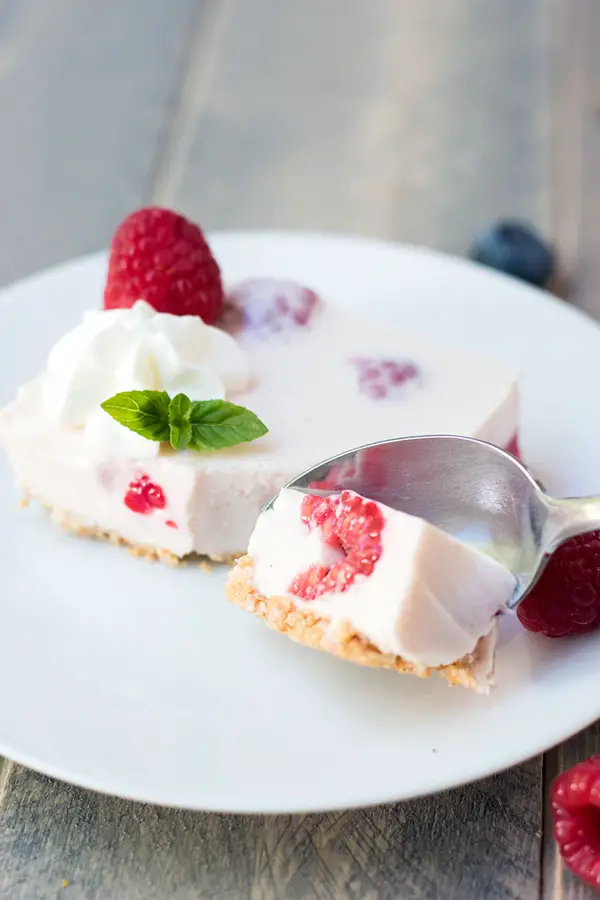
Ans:
<svg viewBox="0 0 600 900"><path fill-rule="evenodd" d="M0 0L0 280L150 202L458 253L514 215L600 316L599 38L598 0ZM591 728L430 799L246 818L4 762L0 898L583 900L544 798L599 746Z"/></svg>

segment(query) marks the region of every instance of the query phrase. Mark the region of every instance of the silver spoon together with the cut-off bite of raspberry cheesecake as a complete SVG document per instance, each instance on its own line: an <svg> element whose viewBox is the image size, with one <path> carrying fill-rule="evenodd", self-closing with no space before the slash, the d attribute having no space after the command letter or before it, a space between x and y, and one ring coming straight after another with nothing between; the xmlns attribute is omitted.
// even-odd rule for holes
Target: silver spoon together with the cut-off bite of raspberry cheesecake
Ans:
<svg viewBox="0 0 600 900"><path fill-rule="evenodd" d="M227 594L300 643L487 693L500 614L563 541L598 527L600 499L549 497L491 444L401 438L287 484Z"/></svg>

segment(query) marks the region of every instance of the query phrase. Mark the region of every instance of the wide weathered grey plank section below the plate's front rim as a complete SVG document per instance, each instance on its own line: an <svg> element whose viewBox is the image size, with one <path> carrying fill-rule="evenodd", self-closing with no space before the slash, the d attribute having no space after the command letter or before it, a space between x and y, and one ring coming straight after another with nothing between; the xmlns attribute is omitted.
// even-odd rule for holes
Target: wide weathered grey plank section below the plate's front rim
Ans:
<svg viewBox="0 0 600 900"><path fill-rule="evenodd" d="M217 816L90 794L15 767L0 809L10 900L537 900L539 766L399 806ZM455 840L449 840L454 834Z"/></svg>

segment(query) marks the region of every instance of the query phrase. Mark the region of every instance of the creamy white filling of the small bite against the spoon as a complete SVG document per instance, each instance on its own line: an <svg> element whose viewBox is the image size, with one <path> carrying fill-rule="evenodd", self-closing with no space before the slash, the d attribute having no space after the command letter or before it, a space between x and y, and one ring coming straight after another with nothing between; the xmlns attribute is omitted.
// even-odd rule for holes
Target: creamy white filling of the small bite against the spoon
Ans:
<svg viewBox="0 0 600 900"><path fill-rule="evenodd" d="M371 575L316 600L292 596L296 575L336 558L321 530L302 522L302 499L282 491L257 521L249 553L260 593L289 595L300 609L330 620L333 632L347 622L383 653L415 665L457 662L487 635L493 643L495 616L513 594L513 575L423 519L383 505L382 552Z"/></svg>

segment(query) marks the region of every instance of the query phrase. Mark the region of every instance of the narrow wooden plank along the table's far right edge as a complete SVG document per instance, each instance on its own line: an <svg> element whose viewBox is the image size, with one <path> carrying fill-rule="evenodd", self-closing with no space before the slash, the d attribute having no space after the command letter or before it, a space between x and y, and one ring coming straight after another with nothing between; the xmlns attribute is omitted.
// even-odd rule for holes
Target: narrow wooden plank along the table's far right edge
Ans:
<svg viewBox="0 0 600 900"><path fill-rule="evenodd" d="M557 0L554 9L551 234L565 296L600 318L600 8L595 0ZM600 726L546 754L542 900L592 900L597 892L562 864L547 804L555 776L600 752Z"/></svg>

